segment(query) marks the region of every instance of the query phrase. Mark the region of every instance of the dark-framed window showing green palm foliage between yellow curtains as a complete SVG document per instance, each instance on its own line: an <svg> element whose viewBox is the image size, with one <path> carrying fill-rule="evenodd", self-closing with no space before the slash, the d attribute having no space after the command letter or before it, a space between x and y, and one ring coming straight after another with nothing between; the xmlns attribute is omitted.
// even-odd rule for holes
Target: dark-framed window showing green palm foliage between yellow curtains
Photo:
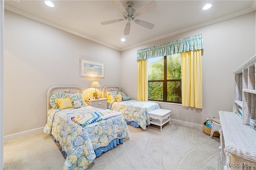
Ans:
<svg viewBox="0 0 256 170"><path fill-rule="evenodd" d="M148 100L181 104L180 54L148 59Z"/></svg>

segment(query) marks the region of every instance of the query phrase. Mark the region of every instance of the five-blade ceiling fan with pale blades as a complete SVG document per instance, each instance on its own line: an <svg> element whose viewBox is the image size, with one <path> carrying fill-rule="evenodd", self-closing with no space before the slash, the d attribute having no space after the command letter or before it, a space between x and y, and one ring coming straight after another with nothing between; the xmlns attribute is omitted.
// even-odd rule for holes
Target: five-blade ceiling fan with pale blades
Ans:
<svg viewBox="0 0 256 170"><path fill-rule="evenodd" d="M116 8L118 8L118 10L120 10L122 12L122 14L124 15L124 19L105 21L105 22L101 23L102 25L107 25L107 24L110 24L110 23L116 23L116 22L127 20L128 22L126 23L126 26L124 28L124 35L129 35L130 27L131 27L130 21L132 21L132 20L135 23L137 23L138 25L141 25L142 27L145 27L145 28L148 28L148 29L152 29L155 26L153 23L143 21L143 20L134 20L134 18L136 16L141 16L142 14L156 8L158 6L156 1L152 0L152 1L148 2L148 4L142 6L138 10L135 10L134 8L132 8L132 6L133 6L132 2L127 2L126 3L127 7L124 8L124 6L122 6L122 4L119 0L110 0L110 1L112 2L112 4Z"/></svg>

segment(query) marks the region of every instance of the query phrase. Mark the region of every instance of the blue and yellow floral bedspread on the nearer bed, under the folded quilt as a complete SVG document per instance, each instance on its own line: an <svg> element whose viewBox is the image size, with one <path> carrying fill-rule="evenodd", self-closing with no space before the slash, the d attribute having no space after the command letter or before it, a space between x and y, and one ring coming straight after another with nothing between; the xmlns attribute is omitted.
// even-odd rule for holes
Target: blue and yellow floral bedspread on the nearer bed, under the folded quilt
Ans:
<svg viewBox="0 0 256 170"><path fill-rule="evenodd" d="M79 114L100 111L96 107L77 109L50 109L44 133L53 135L62 151L66 152L64 170L86 169L96 158L94 150L106 147L114 139L130 139L126 121L122 115L97 121L84 127L72 121Z"/></svg>

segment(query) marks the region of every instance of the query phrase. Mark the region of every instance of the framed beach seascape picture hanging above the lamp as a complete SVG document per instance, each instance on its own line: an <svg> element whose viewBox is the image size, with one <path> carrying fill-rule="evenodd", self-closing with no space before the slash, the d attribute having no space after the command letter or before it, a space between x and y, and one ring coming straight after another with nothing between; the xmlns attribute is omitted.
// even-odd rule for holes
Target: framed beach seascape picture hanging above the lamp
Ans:
<svg viewBox="0 0 256 170"><path fill-rule="evenodd" d="M104 78L104 63L80 59L80 77Z"/></svg>

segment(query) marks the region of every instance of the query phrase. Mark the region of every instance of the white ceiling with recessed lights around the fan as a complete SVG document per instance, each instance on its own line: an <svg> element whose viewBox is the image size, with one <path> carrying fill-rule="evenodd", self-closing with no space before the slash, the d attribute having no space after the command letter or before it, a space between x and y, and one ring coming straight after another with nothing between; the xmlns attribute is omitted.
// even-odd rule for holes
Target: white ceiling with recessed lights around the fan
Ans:
<svg viewBox="0 0 256 170"><path fill-rule="evenodd" d="M126 20L101 25L103 21L123 19L122 13L109 0L52 0L55 7L44 0L4 0L6 10L52 25L108 47L123 51L144 43L169 37L184 31L216 23L255 11L255 0L156 0L158 7L136 17L154 23L146 29L133 21L129 35L123 35ZM121 0L133 2L138 10L149 0ZM202 10L210 3L212 8ZM125 38L126 41L120 41Z"/></svg>

